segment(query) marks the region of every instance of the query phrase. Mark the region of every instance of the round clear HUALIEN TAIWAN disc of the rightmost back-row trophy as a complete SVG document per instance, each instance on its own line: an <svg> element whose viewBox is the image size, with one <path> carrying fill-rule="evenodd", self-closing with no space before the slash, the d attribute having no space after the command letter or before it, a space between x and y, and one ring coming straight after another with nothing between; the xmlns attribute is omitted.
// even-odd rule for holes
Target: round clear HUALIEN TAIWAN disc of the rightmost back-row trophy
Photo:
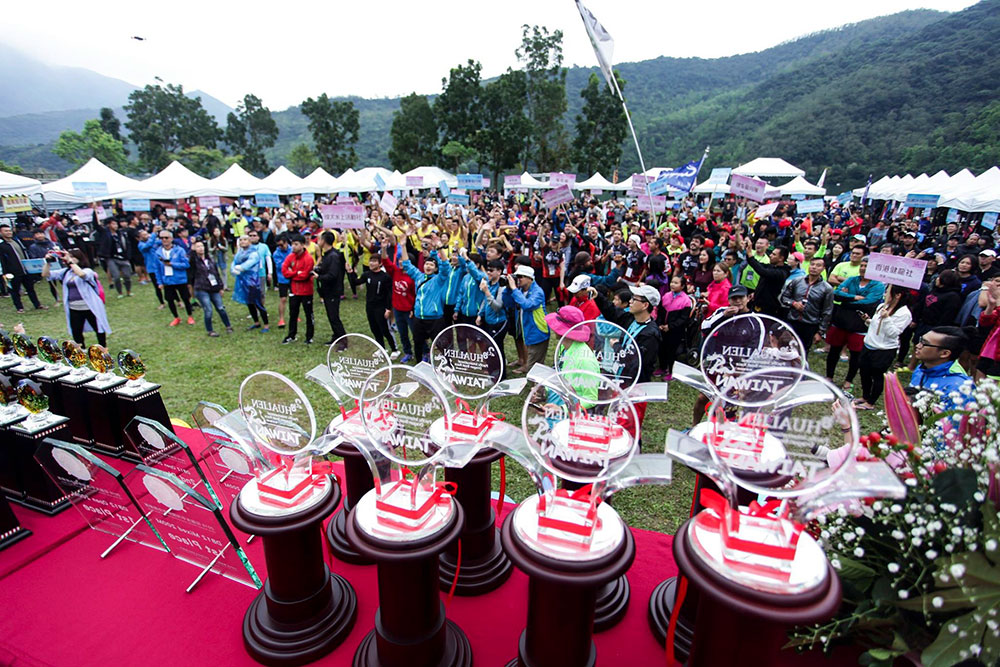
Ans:
<svg viewBox="0 0 1000 667"><path fill-rule="evenodd" d="M701 372L712 392L735 405L763 405L789 376L752 371L806 367L806 354L795 331L769 315L747 313L723 320L701 346ZM798 376L792 376L798 377Z"/></svg>

